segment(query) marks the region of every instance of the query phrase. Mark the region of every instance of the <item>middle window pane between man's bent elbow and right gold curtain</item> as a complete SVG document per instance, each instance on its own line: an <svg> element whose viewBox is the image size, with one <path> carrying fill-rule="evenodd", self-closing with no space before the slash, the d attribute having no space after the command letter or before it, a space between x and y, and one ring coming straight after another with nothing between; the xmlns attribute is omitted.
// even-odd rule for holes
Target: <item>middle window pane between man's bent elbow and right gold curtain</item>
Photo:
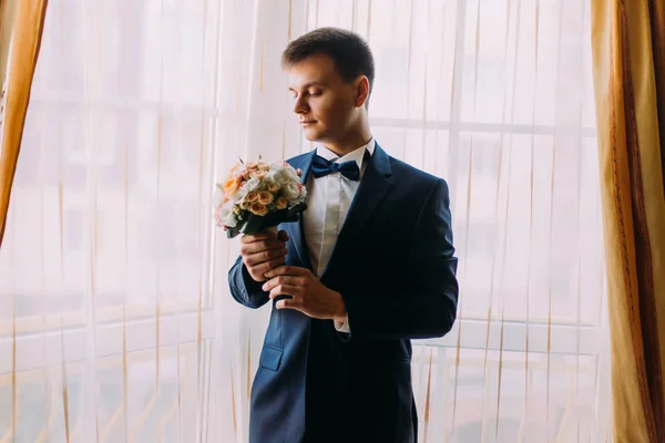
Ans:
<svg viewBox="0 0 665 443"><path fill-rule="evenodd" d="M491 308L511 319L597 323L595 155L593 138L461 134L453 215L462 316Z"/></svg>

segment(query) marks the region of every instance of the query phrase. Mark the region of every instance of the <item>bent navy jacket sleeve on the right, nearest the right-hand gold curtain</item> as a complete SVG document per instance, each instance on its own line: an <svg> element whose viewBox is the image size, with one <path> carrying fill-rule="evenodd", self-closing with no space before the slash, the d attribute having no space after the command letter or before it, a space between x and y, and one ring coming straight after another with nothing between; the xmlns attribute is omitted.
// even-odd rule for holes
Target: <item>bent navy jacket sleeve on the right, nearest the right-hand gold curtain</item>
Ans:
<svg viewBox="0 0 665 443"><path fill-rule="evenodd" d="M418 216L413 249L405 260L410 264L400 286L407 289L342 293L351 330L348 339L426 339L448 333L459 292L453 255L448 185L438 179Z"/></svg>

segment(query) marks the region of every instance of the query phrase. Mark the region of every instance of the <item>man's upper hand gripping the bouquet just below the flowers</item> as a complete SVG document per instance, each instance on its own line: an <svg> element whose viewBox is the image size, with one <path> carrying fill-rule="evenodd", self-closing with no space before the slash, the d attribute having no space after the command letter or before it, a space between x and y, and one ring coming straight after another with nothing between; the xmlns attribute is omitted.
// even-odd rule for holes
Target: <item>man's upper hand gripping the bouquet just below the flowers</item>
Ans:
<svg viewBox="0 0 665 443"><path fill-rule="evenodd" d="M241 237L241 256L255 281L266 281L264 274L286 264L288 234L277 229Z"/></svg>

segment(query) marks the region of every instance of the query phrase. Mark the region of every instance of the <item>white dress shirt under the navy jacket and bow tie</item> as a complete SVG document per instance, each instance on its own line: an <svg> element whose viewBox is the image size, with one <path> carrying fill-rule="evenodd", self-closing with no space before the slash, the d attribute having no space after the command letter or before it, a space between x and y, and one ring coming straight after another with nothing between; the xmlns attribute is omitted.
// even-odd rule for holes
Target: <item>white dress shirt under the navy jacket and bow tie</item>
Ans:
<svg viewBox="0 0 665 443"><path fill-rule="evenodd" d="M355 161L360 169L360 179L362 179L367 168L367 162L364 162L365 152L368 151L372 155L375 147L376 142L371 138L367 145L360 146L344 157L338 157L323 145L316 146L316 153L335 163ZM307 178L307 210L303 215L303 227L311 269L319 278L328 265L332 248L337 243L337 236L349 213L358 186L360 186L360 181L351 181L340 173L328 174L319 178L315 178L310 174ZM335 321L335 329L340 332L350 332L348 320Z"/></svg>

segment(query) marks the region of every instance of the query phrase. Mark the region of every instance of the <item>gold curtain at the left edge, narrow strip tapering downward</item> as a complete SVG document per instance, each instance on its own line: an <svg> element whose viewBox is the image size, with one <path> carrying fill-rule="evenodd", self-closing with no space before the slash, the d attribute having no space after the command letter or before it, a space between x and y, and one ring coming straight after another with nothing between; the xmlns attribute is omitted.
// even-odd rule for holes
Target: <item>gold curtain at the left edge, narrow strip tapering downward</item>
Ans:
<svg viewBox="0 0 665 443"><path fill-rule="evenodd" d="M6 80L7 75L7 81L2 83L1 99L4 115L0 120L0 131L2 132L0 156L1 245L48 0L0 1L0 79ZM8 58L10 59L8 60Z"/></svg>

